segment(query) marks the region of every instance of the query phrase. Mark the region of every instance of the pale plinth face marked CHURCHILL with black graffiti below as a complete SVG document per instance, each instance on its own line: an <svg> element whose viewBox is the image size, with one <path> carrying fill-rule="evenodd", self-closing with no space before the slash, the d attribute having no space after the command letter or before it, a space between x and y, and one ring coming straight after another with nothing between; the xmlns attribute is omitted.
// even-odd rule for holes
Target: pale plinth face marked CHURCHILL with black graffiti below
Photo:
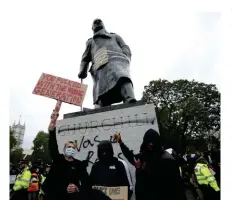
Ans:
<svg viewBox="0 0 232 200"><path fill-rule="evenodd" d="M128 147L138 153L144 133L151 128L158 131L153 104L66 118L58 120L56 127L60 153L63 153L67 141L76 141L75 157L89 161L88 171L97 160L97 145L100 141L110 140L113 144L114 156L127 161L120 146L113 140L115 133L120 132Z"/></svg>

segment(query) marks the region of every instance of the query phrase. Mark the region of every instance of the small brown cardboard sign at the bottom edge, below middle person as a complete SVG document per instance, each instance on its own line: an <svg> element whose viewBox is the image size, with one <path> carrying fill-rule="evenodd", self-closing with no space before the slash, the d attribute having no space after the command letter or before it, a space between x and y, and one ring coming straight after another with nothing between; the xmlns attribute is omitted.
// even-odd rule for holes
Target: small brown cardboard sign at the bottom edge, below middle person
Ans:
<svg viewBox="0 0 232 200"><path fill-rule="evenodd" d="M121 186L121 187L93 186L93 188L101 190L112 200L128 200L127 186Z"/></svg>

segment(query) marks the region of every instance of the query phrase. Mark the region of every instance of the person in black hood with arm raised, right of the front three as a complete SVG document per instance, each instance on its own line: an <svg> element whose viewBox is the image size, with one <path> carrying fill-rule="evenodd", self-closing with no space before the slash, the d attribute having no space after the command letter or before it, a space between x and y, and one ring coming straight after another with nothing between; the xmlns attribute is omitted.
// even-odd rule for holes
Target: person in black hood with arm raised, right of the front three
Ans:
<svg viewBox="0 0 232 200"><path fill-rule="evenodd" d="M183 200L180 172L175 159L163 150L159 134L149 129L143 138L140 153L134 155L115 135L123 155L136 168L136 200Z"/></svg>

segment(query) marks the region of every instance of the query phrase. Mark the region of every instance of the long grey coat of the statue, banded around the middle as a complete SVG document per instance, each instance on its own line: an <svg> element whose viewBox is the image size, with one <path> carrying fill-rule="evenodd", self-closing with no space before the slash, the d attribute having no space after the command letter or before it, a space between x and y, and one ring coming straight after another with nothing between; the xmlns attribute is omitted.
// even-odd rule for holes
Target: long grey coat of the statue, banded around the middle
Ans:
<svg viewBox="0 0 232 200"><path fill-rule="evenodd" d="M102 52L105 53L102 54ZM86 50L81 60L80 73L87 73L89 63L92 62L89 72L94 82L94 104L97 103L101 95L113 91L116 85L120 84L119 80L122 80L121 78L131 82L130 60L130 48L117 34L108 33L105 29L102 29L87 41ZM112 103L122 101L120 94L116 96L117 99L114 99L115 102Z"/></svg>

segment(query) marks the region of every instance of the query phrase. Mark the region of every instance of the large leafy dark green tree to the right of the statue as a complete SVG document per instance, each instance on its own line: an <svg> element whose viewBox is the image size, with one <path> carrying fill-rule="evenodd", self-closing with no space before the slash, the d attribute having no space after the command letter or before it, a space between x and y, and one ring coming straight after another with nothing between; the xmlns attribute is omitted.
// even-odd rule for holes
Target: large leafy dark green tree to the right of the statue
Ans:
<svg viewBox="0 0 232 200"><path fill-rule="evenodd" d="M166 146L183 150L187 140L206 141L206 133L220 130L220 93L213 84L159 79L145 86L142 99L155 105Z"/></svg>

